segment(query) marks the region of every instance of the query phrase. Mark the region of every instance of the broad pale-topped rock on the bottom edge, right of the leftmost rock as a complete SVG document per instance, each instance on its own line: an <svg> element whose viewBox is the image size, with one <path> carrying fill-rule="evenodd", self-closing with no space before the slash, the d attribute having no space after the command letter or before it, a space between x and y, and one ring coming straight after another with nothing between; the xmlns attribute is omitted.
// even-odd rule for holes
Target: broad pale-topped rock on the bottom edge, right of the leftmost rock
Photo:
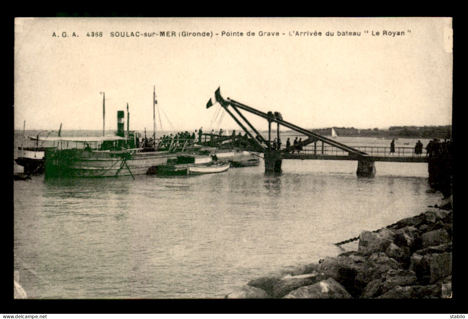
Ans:
<svg viewBox="0 0 468 319"><path fill-rule="evenodd" d="M351 295L335 279L328 278L313 285L291 291L284 298L351 298Z"/></svg>

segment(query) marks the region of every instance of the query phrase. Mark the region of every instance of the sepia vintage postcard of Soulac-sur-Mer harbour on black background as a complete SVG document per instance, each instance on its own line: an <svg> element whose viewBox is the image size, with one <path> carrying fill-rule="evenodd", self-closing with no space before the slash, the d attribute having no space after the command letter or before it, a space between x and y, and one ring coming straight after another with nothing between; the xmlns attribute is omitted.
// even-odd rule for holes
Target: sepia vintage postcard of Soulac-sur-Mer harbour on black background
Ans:
<svg viewBox="0 0 468 319"><path fill-rule="evenodd" d="M452 18L18 17L14 58L15 298L451 296Z"/></svg>

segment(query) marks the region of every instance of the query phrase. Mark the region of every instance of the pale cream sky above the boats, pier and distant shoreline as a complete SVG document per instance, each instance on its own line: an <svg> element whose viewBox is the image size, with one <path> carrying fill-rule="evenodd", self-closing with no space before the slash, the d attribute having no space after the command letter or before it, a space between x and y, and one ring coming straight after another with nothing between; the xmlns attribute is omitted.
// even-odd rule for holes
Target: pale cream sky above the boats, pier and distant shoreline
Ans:
<svg viewBox="0 0 468 319"><path fill-rule="evenodd" d="M15 129L26 121L26 129L102 130L105 92L106 130L117 129L128 102L130 129L152 131L153 86L164 130L171 127L161 109L179 131L238 129L228 114L210 127L220 106L206 103L218 86L224 98L304 128L450 125L451 32L450 18L17 18Z"/></svg>

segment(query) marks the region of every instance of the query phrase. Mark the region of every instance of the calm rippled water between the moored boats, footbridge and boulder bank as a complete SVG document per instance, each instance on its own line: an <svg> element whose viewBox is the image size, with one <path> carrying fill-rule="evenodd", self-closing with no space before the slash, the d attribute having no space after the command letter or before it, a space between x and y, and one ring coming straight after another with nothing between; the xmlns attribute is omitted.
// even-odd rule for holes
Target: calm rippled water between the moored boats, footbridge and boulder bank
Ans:
<svg viewBox="0 0 468 319"><path fill-rule="evenodd" d="M358 178L355 161L285 160L280 175L261 163L196 177L16 181L15 269L29 298L223 298L442 198L427 164L375 166L375 178Z"/></svg>

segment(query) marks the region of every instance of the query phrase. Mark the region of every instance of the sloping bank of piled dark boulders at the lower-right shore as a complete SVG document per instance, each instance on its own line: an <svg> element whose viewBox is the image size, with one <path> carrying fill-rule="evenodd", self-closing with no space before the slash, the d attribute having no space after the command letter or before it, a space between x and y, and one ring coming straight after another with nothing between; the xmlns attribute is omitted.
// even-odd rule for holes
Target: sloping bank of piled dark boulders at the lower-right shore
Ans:
<svg viewBox="0 0 468 319"><path fill-rule="evenodd" d="M449 298L452 211L359 235L358 251L251 280L226 298Z"/></svg>

